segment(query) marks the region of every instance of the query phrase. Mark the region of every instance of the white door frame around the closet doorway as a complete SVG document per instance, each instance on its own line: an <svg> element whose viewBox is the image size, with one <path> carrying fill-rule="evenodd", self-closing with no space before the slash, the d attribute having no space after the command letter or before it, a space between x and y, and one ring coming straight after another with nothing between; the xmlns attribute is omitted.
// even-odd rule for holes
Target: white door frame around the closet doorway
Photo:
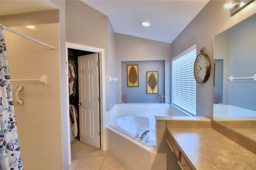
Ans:
<svg viewBox="0 0 256 170"><path fill-rule="evenodd" d="M81 44L76 44L76 43L70 43L66 42L66 82L68 83L68 48L71 49L78 49L81 51L90 51L90 52L95 52L99 53L99 61L100 61L100 131L101 131L101 136L100 136L100 148L101 150L106 150L106 133L104 131L105 126L105 115L106 115L106 89L105 89L105 50L102 48L97 48L97 47L90 47L86 45L81 45ZM68 86L66 89L67 92L67 100L69 101L69 95L68 95ZM66 113L62 113L62 115L66 118L66 122L68 122L69 125L69 106L66 106ZM66 124L65 122L65 124ZM62 124L63 125L63 124ZM63 138L63 148L68 148L68 163L71 165L71 148L70 148L70 127L69 126L62 126L63 132L68 132L68 135L66 138ZM66 135L65 135L66 136ZM63 136L64 137L64 136ZM66 142L64 142L64 140ZM64 146L64 144L66 146Z"/></svg>

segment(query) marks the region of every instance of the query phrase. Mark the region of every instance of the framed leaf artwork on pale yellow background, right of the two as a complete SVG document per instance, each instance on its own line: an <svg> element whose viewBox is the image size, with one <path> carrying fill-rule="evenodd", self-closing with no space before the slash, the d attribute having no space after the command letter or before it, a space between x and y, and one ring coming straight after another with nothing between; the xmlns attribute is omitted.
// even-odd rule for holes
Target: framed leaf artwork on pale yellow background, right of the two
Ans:
<svg viewBox="0 0 256 170"><path fill-rule="evenodd" d="M147 93L158 94L158 71L147 71Z"/></svg>

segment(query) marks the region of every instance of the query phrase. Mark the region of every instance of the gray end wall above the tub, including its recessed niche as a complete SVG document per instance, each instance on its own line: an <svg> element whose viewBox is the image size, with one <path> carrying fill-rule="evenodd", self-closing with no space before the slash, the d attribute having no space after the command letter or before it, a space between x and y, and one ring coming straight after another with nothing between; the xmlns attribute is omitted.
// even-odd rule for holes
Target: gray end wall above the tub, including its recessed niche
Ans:
<svg viewBox="0 0 256 170"><path fill-rule="evenodd" d="M171 100L171 44L158 42L154 40L148 40L145 38L139 38L134 36L129 36L125 34L115 34L115 49L116 49L116 76L118 81L116 81L116 103L120 104L123 101L124 93L128 93L128 102L130 103L159 103L157 100L157 95L146 94L146 71L157 71L161 70L162 67L164 77L161 78L162 82L164 81L164 89L159 90L159 93L164 93L165 95L165 103L170 104ZM130 89L125 89L127 87L127 76L122 75L124 71L122 70L121 63L122 61L131 61L139 64L139 69L144 68L144 70L139 70L139 88L138 91L134 91L136 87L129 87ZM142 61L150 61L149 63L154 63L155 61L164 62L164 66L159 65L159 68L150 67L143 65ZM158 74L160 75L160 73ZM161 80L160 79L160 80ZM143 82L144 81L144 82ZM124 84L122 84L124 82ZM126 91L127 90L127 91ZM136 97L140 97L136 99ZM154 98L156 97L156 98ZM149 99L150 98L150 99ZM132 101L129 101L133 99ZM156 100L155 100L156 99Z"/></svg>

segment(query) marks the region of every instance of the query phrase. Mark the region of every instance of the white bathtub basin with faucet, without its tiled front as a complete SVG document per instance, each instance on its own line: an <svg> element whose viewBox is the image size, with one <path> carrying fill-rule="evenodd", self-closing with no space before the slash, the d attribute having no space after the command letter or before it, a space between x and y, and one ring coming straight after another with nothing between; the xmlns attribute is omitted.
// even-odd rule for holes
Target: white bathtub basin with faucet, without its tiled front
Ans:
<svg viewBox="0 0 256 170"><path fill-rule="evenodd" d="M110 124L110 127L139 141L142 145L148 147L156 146L156 119L154 116L117 116ZM146 130L149 130L148 134L146 134L143 140L140 140L140 136Z"/></svg>

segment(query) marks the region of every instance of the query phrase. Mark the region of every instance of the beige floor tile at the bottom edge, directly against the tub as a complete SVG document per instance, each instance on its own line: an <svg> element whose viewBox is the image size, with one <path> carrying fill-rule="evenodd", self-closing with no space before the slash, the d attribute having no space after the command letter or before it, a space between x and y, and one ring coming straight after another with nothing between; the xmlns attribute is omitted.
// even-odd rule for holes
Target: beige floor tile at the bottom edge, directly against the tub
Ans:
<svg viewBox="0 0 256 170"><path fill-rule="evenodd" d="M100 170L125 170L122 165L114 156L106 156Z"/></svg>

